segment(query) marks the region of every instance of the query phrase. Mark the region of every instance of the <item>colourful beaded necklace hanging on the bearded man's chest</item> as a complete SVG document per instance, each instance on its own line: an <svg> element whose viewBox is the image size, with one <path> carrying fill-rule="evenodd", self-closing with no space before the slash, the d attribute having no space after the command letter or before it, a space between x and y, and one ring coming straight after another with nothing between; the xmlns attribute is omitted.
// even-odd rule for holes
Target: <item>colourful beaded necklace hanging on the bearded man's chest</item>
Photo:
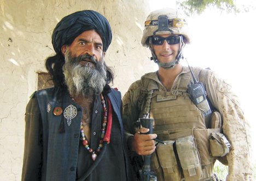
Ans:
<svg viewBox="0 0 256 181"><path fill-rule="evenodd" d="M84 135L84 130L83 130L83 125L82 125L82 121L81 121L81 126L80 126L80 132L81 132L81 136L82 136L82 141L83 141L83 145L85 147L85 149L87 149L90 153L91 153L91 158L92 160L96 160L97 158L97 154L96 153L99 153L101 148L103 147L103 141L105 141L103 138L105 136L105 130L106 130L106 125L107 125L107 122L108 122L108 119L107 119L107 107L106 107L106 103L104 101L104 97L102 96L102 94L100 95L101 96L101 103L102 103L102 106L103 106L103 122L102 122L102 129L101 129L101 139L100 139L100 143L98 144L98 148L96 150L92 150L92 148L89 147L89 142L88 142L88 139L86 138L86 136ZM110 105L109 105L110 106ZM108 142L109 143L109 142Z"/></svg>

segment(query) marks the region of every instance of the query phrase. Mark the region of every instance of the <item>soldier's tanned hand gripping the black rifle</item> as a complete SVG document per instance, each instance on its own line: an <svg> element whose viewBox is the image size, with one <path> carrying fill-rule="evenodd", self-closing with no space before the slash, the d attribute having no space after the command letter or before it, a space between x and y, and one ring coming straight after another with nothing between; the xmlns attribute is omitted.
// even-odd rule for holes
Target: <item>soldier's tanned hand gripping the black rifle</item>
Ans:
<svg viewBox="0 0 256 181"><path fill-rule="evenodd" d="M132 138L131 147L136 151L138 155L150 155L155 151L155 139L156 134L143 135L147 133L149 129L142 127Z"/></svg>

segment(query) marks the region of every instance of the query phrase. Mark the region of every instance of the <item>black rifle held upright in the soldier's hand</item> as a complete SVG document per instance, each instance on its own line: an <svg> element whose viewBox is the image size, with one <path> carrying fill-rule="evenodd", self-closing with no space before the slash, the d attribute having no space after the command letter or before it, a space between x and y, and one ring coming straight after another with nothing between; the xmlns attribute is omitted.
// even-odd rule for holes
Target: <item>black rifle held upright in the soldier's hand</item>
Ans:
<svg viewBox="0 0 256 181"><path fill-rule="evenodd" d="M154 119L151 118L139 118L138 120L141 122L142 127L146 127L149 129L149 131L146 134L152 134L153 133L153 121ZM156 181L157 178L155 176L155 173L151 170L150 164L151 164L151 156L147 155L144 157L144 164L142 166L142 169L139 170L139 181Z"/></svg>

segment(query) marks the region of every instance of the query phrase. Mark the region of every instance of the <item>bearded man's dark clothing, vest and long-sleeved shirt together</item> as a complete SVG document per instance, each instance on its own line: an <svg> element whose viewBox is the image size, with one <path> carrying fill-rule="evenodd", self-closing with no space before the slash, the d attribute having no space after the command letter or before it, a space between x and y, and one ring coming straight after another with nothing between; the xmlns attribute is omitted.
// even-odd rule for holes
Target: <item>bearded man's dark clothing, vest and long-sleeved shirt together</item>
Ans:
<svg viewBox="0 0 256 181"><path fill-rule="evenodd" d="M110 142L103 144L96 161L100 157L102 159L85 180L130 180L130 164L121 121L121 94L106 86L103 96L109 98L113 112ZM72 116L68 125L66 118L71 113L65 112L65 109L70 105L73 110L68 111L75 116ZM56 108L59 113L61 109L62 113L56 115ZM92 117L89 145L96 150L102 134L103 107L100 95L95 96L94 106L90 111ZM82 107L72 100L67 91L50 88L34 93L27 104L25 115L22 180L76 180L92 169L95 161L92 161L91 153L80 140L82 115ZM62 133L61 124L64 124L65 129Z"/></svg>

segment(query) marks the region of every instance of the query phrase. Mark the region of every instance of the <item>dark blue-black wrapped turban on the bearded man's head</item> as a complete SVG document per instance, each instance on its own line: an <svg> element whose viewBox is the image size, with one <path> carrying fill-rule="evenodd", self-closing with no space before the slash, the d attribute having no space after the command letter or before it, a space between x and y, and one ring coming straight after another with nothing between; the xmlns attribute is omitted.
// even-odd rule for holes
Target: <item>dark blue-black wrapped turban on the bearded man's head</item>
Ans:
<svg viewBox="0 0 256 181"><path fill-rule="evenodd" d="M79 34L88 30L100 34L103 51L106 52L112 40L112 31L106 17L93 10L77 11L62 18L51 37L55 52L61 52L63 45L70 45Z"/></svg>

